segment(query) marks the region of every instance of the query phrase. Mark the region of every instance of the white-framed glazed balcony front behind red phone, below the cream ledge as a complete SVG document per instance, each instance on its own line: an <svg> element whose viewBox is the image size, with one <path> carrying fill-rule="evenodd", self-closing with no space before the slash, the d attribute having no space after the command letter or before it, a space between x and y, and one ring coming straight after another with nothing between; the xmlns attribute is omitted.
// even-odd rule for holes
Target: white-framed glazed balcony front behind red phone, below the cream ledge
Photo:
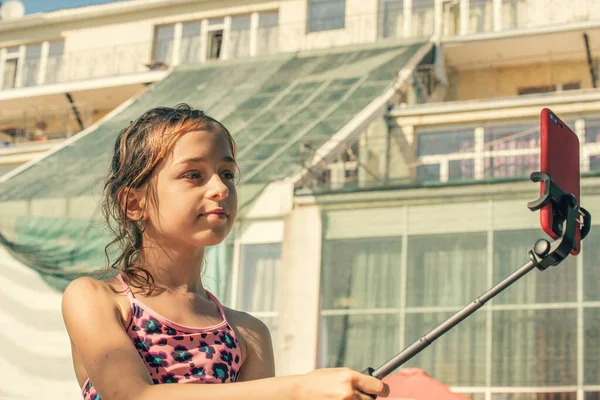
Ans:
<svg viewBox="0 0 600 400"><path fill-rule="evenodd" d="M579 136L581 174L600 174L600 114L585 119L567 117L565 122ZM416 133L416 148L384 132L348 140L334 160L310 168L297 189L525 179L540 168L536 121L486 122L434 132L417 127ZM304 145L314 147L310 143ZM302 159L307 163L312 155L307 152Z"/></svg>

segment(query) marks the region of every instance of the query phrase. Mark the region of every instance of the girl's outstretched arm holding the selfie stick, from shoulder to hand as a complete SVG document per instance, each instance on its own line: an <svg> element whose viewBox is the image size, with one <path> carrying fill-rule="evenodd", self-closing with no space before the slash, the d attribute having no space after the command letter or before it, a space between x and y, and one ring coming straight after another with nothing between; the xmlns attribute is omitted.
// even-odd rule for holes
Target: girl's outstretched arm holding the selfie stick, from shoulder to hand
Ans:
<svg viewBox="0 0 600 400"><path fill-rule="evenodd" d="M360 392L389 393L380 380L345 368L235 384L153 385L107 285L91 278L76 279L65 290L62 310L73 346L102 400L369 400ZM263 365L254 354L256 347L248 348L247 362ZM250 365L246 369L244 379L249 379L254 372ZM270 373L261 371L257 374Z"/></svg>

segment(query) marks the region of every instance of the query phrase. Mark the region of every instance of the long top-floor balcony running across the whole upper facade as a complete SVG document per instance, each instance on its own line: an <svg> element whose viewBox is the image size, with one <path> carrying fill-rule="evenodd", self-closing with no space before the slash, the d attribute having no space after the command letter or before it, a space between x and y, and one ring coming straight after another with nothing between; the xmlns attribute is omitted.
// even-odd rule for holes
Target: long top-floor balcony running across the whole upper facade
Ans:
<svg viewBox="0 0 600 400"><path fill-rule="evenodd" d="M137 74L213 59L260 56L377 40L478 37L569 24L600 24L592 0L382 0L377 13L280 23L260 12L160 25L153 41L70 50L68 40L0 48L0 89ZM317 17L313 18L316 19ZM335 19L335 20L333 20ZM339 20L339 21L338 21ZM315 25L316 24L316 25ZM310 27L343 27L309 32ZM325 29L325 28L323 28Z"/></svg>

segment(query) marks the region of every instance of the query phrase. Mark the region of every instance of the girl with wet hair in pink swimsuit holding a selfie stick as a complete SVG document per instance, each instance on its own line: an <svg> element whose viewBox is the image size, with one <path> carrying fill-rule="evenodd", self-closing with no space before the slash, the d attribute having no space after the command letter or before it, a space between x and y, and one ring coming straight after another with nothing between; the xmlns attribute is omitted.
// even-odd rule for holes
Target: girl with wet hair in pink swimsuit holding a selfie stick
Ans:
<svg viewBox="0 0 600 400"><path fill-rule="evenodd" d="M103 210L116 221L118 274L76 279L62 302L84 399L388 395L380 380L344 368L274 378L266 326L203 287L204 249L236 218L236 170L227 129L187 105L149 110L117 137ZM231 382L240 383L163 385Z"/></svg>

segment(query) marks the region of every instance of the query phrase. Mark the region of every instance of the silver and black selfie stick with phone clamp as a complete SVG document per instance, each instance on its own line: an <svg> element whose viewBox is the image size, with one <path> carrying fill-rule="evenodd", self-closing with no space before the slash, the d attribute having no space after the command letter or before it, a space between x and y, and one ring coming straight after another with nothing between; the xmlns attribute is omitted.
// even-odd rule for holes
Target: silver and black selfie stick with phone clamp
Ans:
<svg viewBox="0 0 600 400"><path fill-rule="evenodd" d="M377 369L369 367L363 371L364 374L383 379L396 368L426 349L434 340L480 309L485 303L494 298L494 296L525 276L529 271L534 268L543 271L550 266L558 265L562 260L567 258L571 250L577 249L578 244L575 242L577 223L580 224L581 239L583 239L590 231L592 216L585 209L579 208L575 196L563 192L547 174L534 172L531 174L531 180L534 182L544 182L545 189L540 198L529 202L527 207L531 211L537 211L547 204L552 204L555 213L554 218L558 219L559 226L562 227L562 235L552 243L545 239L538 240L533 249L529 251L529 262L527 264L442 322L437 328L406 347L381 367ZM375 398L376 396L371 397Z"/></svg>

